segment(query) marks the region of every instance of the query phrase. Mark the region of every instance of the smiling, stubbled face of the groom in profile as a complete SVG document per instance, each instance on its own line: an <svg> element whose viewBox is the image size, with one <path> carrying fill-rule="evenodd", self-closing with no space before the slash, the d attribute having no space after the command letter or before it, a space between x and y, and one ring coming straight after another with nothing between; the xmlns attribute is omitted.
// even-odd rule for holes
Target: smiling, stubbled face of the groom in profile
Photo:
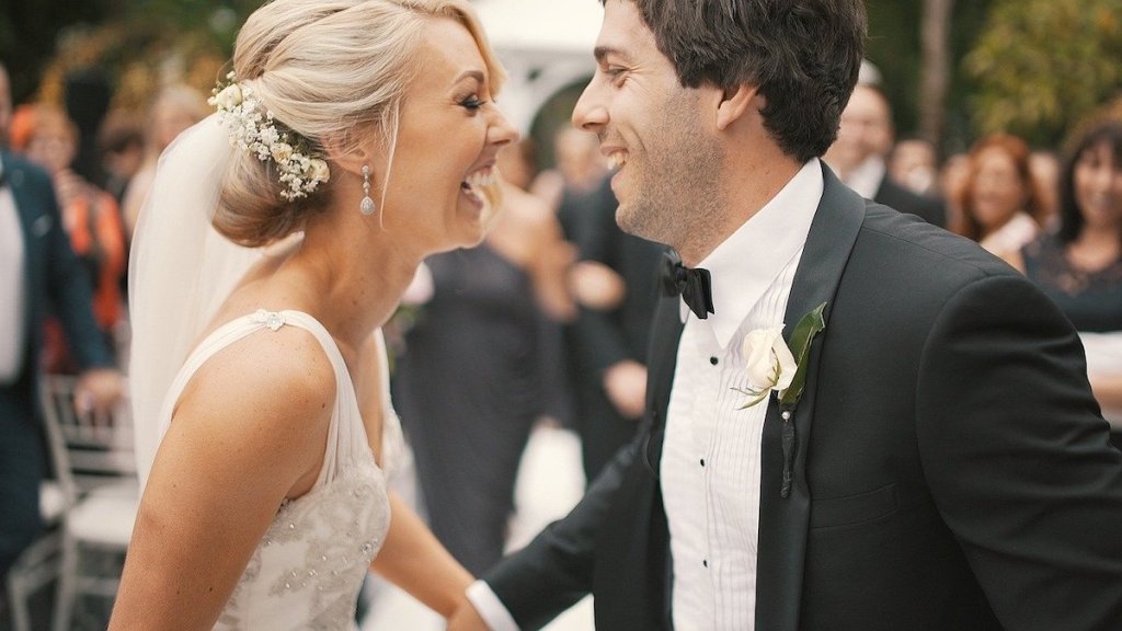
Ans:
<svg viewBox="0 0 1122 631"><path fill-rule="evenodd" d="M573 110L615 166L616 220L640 237L679 247L717 193L720 149L705 125L702 89L683 88L629 0L608 0L597 70Z"/></svg>

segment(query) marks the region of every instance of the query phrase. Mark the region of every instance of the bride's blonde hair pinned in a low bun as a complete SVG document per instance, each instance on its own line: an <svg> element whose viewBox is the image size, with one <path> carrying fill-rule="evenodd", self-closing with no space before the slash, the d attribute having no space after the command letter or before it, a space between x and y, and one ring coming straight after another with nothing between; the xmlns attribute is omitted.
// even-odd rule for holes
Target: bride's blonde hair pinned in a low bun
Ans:
<svg viewBox="0 0 1122 631"><path fill-rule="evenodd" d="M506 74L467 0L274 0L257 9L238 34L234 81L249 88L274 124L328 159L355 150L374 134L388 152L397 138L405 88L414 73L423 27L434 17L462 24L475 38L497 93ZM260 112L265 116L265 111ZM331 180L288 200L273 159L234 150L214 228L230 240L257 247L300 230L322 211L341 171L329 162ZM389 174L379 174L383 181ZM356 210L358 212L358 210Z"/></svg>

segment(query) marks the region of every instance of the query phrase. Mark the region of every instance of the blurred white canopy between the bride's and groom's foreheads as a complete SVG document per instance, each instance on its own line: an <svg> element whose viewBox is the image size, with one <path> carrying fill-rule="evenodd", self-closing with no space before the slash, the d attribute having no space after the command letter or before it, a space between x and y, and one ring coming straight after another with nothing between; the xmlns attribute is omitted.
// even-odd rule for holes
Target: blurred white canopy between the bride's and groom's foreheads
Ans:
<svg viewBox="0 0 1122 631"><path fill-rule="evenodd" d="M476 0L487 36L511 73L500 98L523 134L542 104L592 73L604 8L597 0Z"/></svg>

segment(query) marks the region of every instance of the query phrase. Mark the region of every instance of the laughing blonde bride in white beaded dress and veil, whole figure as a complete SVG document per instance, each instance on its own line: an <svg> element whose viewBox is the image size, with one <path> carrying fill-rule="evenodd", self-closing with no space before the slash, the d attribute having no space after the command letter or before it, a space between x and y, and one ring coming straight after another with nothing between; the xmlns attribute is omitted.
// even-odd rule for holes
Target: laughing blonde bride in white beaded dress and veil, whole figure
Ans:
<svg viewBox="0 0 1122 631"><path fill-rule="evenodd" d="M146 486L111 629L348 629L370 567L452 614L471 577L386 491L377 331L425 256L484 237L503 76L467 0L242 27L137 229Z"/></svg>

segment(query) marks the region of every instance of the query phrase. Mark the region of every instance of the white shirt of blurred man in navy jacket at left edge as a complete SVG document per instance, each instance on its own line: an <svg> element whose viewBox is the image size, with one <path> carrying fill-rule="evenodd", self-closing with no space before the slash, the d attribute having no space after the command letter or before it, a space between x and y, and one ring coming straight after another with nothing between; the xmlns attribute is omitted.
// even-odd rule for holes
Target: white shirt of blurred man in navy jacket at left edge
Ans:
<svg viewBox="0 0 1122 631"><path fill-rule="evenodd" d="M0 164L0 176L3 164ZM11 186L0 185L0 385L19 377L24 359L24 229Z"/></svg>

